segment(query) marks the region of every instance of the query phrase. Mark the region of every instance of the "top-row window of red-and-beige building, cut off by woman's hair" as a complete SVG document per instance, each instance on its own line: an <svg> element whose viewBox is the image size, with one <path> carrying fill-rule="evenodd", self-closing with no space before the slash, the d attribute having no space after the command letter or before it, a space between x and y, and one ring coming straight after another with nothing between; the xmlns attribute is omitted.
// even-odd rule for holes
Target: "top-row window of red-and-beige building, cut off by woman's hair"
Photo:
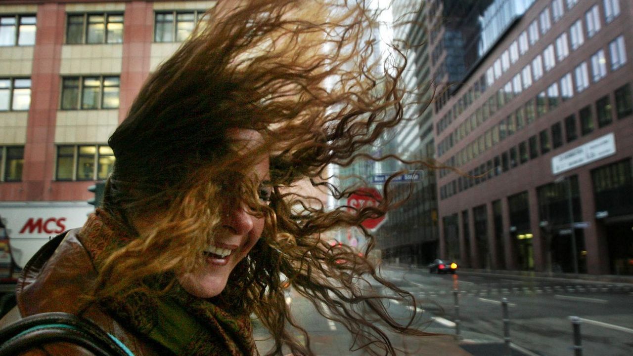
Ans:
<svg viewBox="0 0 633 356"><path fill-rule="evenodd" d="M154 42L182 42L194 30L204 11L158 12L155 17Z"/></svg>

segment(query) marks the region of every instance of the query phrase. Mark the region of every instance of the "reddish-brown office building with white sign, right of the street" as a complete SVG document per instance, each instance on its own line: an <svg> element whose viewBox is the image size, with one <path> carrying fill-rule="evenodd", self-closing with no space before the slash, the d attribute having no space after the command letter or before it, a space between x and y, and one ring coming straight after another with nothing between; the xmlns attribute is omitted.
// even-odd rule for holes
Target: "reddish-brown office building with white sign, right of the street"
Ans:
<svg viewBox="0 0 633 356"><path fill-rule="evenodd" d="M450 16L456 3L432 5ZM433 66L448 83L434 106L437 159L461 172L438 172L440 254L473 268L633 274L633 4L470 3L486 6L460 8L468 31L456 21L430 42L437 63L447 38L456 58L468 49ZM477 46L461 38L475 22Z"/></svg>

